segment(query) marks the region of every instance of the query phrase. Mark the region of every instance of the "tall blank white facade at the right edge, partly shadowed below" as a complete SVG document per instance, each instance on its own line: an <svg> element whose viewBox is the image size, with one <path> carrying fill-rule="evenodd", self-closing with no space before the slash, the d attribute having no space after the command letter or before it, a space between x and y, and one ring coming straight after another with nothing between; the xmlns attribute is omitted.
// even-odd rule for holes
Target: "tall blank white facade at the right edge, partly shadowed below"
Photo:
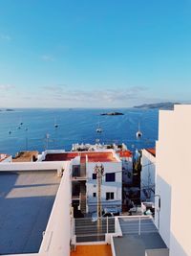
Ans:
<svg viewBox="0 0 191 256"><path fill-rule="evenodd" d="M191 255L191 105L159 112L156 224L170 256Z"/></svg>

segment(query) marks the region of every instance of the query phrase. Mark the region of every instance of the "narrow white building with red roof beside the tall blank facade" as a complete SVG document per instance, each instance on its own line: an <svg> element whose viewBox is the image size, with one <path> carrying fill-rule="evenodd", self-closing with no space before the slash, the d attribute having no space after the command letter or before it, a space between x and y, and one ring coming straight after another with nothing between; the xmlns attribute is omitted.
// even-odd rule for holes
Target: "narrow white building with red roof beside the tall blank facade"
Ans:
<svg viewBox="0 0 191 256"><path fill-rule="evenodd" d="M144 149L141 155L140 198L155 202L156 151Z"/></svg>

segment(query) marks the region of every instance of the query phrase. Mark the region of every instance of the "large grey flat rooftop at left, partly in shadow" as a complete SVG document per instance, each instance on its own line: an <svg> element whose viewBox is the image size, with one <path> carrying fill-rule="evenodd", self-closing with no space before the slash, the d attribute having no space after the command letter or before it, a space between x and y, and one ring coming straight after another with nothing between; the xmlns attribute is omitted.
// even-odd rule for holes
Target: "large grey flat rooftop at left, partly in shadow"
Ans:
<svg viewBox="0 0 191 256"><path fill-rule="evenodd" d="M56 171L0 173L0 254L38 252L59 183Z"/></svg>

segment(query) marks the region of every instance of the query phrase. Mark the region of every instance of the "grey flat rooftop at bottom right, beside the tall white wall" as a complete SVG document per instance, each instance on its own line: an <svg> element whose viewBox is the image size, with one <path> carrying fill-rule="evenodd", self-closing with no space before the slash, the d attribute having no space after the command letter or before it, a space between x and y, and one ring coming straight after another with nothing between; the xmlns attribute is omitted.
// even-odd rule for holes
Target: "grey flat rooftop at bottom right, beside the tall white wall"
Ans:
<svg viewBox="0 0 191 256"><path fill-rule="evenodd" d="M152 219L141 217L140 220L140 235L138 235L138 217L119 218L123 236L114 238L117 256L145 256L146 249L166 248Z"/></svg>

